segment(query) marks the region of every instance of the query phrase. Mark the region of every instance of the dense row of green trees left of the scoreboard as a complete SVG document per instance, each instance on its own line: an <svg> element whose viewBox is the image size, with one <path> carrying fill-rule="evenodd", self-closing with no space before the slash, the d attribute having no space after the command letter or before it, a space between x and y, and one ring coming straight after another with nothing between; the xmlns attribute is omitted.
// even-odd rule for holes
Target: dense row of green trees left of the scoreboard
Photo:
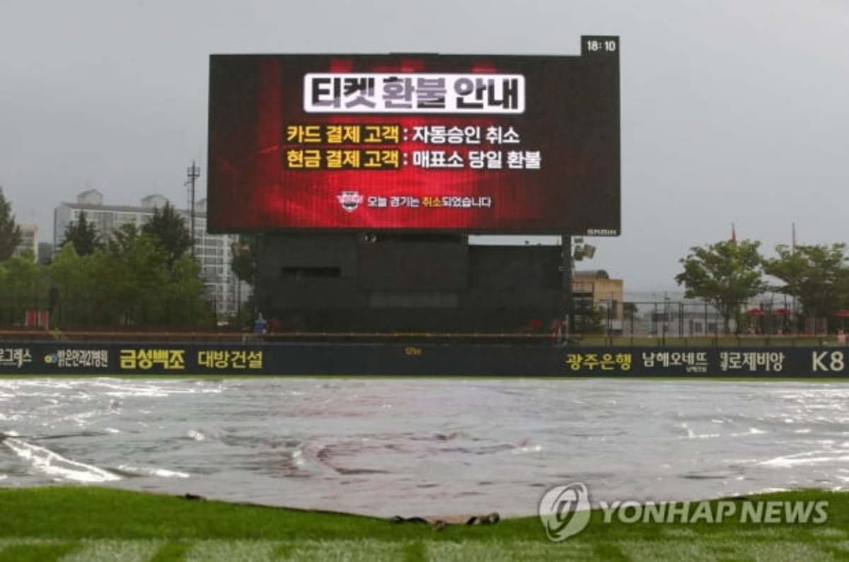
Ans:
<svg viewBox="0 0 849 562"><path fill-rule="evenodd" d="M11 227L9 225L12 225ZM14 233L17 232L17 235ZM0 324L48 310L50 326L211 325L213 303L183 217L166 205L141 227L128 223L106 239L84 212L70 222L47 264L31 251L14 256L20 228L0 190Z"/></svg>

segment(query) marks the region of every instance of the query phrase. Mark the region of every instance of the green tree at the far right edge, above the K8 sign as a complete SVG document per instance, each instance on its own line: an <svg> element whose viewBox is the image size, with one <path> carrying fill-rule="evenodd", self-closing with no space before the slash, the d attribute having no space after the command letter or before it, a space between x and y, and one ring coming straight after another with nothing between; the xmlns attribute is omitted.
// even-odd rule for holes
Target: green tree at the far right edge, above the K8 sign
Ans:
<svg viewBox="0 0 849 562"><path fill-rule="evenodd" d="M776 246L778 257L764 262L764 273L782 282L774 287L796 297L806 316L828 318L849 301L846 244Z"/></svg>

